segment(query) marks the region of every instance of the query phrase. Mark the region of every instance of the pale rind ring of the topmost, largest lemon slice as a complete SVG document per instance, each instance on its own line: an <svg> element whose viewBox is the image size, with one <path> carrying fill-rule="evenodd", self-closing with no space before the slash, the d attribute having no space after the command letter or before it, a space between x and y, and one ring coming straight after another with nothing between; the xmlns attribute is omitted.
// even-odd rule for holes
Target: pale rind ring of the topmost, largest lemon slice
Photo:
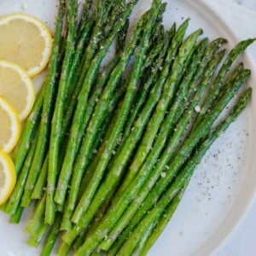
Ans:
<svg viewBox="0 0 256 256"><path fill-rule="evenodd" d="M53 38L52 38L51 32L49 31L48 26L46 26L42 20L39 20L38 18L33 17L32 15L26 15L21 13L17 13L14 15L6 15L0 18L0 27L8 24L12 20L21 20L21 21L23 20L26 23L32 23L32 25L38 28L38 31L40 32L40 36L44 38L45 47L44 47L44 50L42 51L41 60L38 61L38 63L35 63L33 67L29 67L27 69L23 67L24 69L26 69L26 73L28 73L30 77L34 77L38 75L38 73L41 73L49 62L49 57L51 55L51 50L53 46ZM20 40L22 41L24 40L24 38L20 38ZM32 48L36 48L36 47L32 47ZM20 53L22 53L22 50L20 50ZM27 55L26 57L28 58L29 55ZM12 61L12 60L8 60L8 61ZM17 62L17 64L19 64L22 67L22 61L20 61L20 63Z"/></svg>

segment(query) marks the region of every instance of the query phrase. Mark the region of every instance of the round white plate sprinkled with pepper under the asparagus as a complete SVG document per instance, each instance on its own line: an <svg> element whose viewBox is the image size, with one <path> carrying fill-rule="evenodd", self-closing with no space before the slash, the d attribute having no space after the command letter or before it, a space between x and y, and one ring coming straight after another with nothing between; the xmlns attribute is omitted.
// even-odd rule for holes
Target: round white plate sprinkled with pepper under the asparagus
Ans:
<svg viewBox="0 0 256 256"><path fill-rule="evenodd" d="M133 17L149 8L151 1L141 0ZM44 20L53 31L56 0L1 0L0 16L25 12ZM210 39L224 37L228 47L237 43L229 26L221 17L200 1L167 1L165 25L175 20L180 24L190 17L189 32L201 27ZM246 67L256 70L247 55L243 55ZM253 86L255 73L248 82ZM225 240L250 206L256 187L255 90L253 101L247 110L218 141L212 145L189 185L172 221L160 236L149 255L209 255ZM39 255L40 249L26 245L23 232L29 214L19 225L9 224L9 217L0 213L0 255Z"/></svg>

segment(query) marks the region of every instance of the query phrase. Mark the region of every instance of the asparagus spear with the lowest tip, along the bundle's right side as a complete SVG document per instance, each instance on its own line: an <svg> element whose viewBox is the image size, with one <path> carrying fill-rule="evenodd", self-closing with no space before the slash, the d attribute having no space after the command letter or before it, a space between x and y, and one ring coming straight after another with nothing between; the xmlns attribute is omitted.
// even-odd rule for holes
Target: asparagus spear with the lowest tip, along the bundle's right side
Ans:
<svg viewBox="0 0 256 256"><path fill-rule="evenodd" d="M143 236L143 233L148 230L148 227L152 223L160 218L167 205L172 201L173 197L177 195L179 189L188 183L190 177L195 172L195 167L200 163L202 157L206 154L207 149L218 138L218 136L229 127L230 123L236 120L237 116L246 107L250 96L251 89L248 89L243 93L239 102L237 102L236 107L233 109L232 113L230 113L230 116L225 119L222 124L218 125L217 129L213 131L203 143L201 143L200 148L195 152L192 159L184 166L184 169L176 177L172 186L166 190L166 193L161 197L160 201L157 202L154 209L151 212L148 212L148 215L143 218L143 221L138 224L136 230L134 230L130 238L125 242L124 246L121 247L119 251L120 256L131 255L134 248L137 246L138 241Z"/></svg>

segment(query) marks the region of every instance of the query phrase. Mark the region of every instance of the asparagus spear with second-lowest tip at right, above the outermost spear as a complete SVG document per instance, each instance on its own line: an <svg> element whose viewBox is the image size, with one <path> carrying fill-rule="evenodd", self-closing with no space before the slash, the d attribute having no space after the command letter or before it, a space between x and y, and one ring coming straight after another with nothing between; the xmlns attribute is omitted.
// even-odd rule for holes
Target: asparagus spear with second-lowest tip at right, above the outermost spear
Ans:
<svg viewBox="0 0 256 256"><path fill-rule="evenodd" d="M133 230L133 228L137 226L139 221L143 218L145 212L148 212L148 210L150 210L150 208L154 206L154 203L158 200L161 193L166 189L168 183L177 174L179 168L183 165L184 161L189 157L190 152L193 150L193 148L195 148L196 144L201 141L201 138L207 136L213 122L218 118L219 113L222 112L222 110L228 104L228 102L230 102L232 97L236 96L237 90L246 81L249 74L249 71L244 70L235 77L235 79L230 83L229 90L226 90L224 96L220 98L218 102L216 102L214 108L212 108L211 110L211 113L207 113L203 122L201 122L201 124L198 125L195 130L190 132L189 137L187 137L187 139L183 143L182 148L180 148L177 155L172 160L171 165L168 166L168 162L170 160L169 149L172 148L172 143L169 143L166 151L164 152L164 154L162 154L160 161L156 166L156 170L159 168L160 172L164 172L166 166L168 166L168 169L166 171L166 177L164 179L160 179L160 181L156 183L156 185L154 185L153 189L152 187L150 187L151 191L147 195L147 198L144 200L143 206L137 212L135 218L132 219L129 227L126 228L125 235L122 236L127 237L127 235L131 233L131 230ZM122 240L125 239L125 237L122 238Z"/></svg>

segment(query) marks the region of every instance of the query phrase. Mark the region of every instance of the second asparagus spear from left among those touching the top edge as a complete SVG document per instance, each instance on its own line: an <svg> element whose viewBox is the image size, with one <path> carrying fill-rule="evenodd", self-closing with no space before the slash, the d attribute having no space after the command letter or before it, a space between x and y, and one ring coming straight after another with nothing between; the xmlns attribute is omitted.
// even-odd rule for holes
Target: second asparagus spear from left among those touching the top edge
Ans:
<svg viewBox="0 0 256 256"><path fill-rule="evenodd" d="M55 184L58 173L58 160L61 147L61 125L64 115L64 107L67 98L67 91L70 84L67 84L67 73L70 72L76 43L76 24L77 24L77 1L67 0L67 44L66 53L61 67L61 79L55 102L53 118L49 136L49 168L47 177L47 193L45 222L53 224L55 221Z"/></svg>

